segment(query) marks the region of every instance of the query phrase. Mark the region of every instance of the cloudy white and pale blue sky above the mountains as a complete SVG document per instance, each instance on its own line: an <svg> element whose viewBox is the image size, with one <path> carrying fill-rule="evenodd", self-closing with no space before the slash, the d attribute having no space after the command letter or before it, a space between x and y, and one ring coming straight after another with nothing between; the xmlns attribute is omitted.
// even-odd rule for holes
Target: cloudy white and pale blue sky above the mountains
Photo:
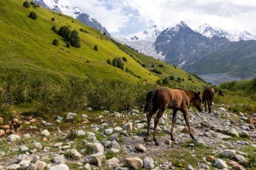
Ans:
<svg viewBox="0 0 256 170"><path fill-rule="evenodd" d="M96 18L110 33L131 34L156 24L165 29L183 20L256 34L254 0L70 0Z"/></svg>

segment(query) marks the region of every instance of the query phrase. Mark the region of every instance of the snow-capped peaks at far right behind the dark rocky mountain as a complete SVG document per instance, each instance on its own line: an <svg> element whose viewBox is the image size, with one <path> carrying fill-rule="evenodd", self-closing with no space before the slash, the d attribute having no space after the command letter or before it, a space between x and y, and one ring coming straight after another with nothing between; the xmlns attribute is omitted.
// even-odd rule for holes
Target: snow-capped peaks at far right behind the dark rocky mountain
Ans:
<svg viewBox="0 0 256 170"><path fill-rule="evenodd" d="M217 36L219 38L226 37L232 42L237 42L240 40L256 40L256 36L251 35L249 32L240 32L238 30L224 31L220 28L212 28L209 24L203 24L195 29L195 32L199 32L207 38L212 38Z"/></svg>

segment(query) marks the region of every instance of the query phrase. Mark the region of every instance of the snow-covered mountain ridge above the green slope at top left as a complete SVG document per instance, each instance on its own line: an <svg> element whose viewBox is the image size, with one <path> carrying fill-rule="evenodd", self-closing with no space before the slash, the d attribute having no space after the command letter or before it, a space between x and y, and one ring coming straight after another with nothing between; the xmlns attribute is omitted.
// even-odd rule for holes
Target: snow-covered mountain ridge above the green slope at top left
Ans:
<svg viewBox="0 0 256 170"><path fill-rule="evenodd" d="M97 22L96 19L84 13L84 11L82 11L82 9L79 7L72 5L69 0L35 0L35 2L44 8L51 9L52 11L63 13L78 19L80 22L86 24L87 26L95 28L96 30L100 30L102 33L105 32L106 36L110 36L106 28L102 27L102 25Z"/></svg>

